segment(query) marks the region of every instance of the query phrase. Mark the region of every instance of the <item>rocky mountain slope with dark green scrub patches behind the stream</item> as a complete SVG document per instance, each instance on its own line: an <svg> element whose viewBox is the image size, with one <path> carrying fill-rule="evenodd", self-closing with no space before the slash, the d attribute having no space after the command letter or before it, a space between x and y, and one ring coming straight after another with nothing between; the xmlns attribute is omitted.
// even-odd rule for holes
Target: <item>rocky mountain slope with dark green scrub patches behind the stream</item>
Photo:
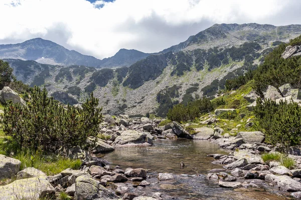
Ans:
<svg viewBox="0 0 301 200"><path fill-rule="evenodd" d="M58 100L82 102L93 91L106 113L165 116L179 102L186 104L202 96L213 98L227 79L256 69L277 45L300 34L301 25L215 24L129 67L97 69L7 61L18 79L46 86ZM130 60L130 56L123 56L127 51L121 49L113 57Z"/></svg>

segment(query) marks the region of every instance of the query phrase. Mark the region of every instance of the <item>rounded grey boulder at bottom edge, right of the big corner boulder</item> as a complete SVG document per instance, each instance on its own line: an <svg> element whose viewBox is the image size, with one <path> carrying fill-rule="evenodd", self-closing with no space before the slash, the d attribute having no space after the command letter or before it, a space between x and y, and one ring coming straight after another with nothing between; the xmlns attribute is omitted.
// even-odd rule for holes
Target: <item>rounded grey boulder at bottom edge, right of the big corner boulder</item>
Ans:
<svg viewBox="0 0 301 200"><path fill-rule="evenodd" d="M88 176L78 176L75 180L75 200L99 198L99 181Z"/></svg>

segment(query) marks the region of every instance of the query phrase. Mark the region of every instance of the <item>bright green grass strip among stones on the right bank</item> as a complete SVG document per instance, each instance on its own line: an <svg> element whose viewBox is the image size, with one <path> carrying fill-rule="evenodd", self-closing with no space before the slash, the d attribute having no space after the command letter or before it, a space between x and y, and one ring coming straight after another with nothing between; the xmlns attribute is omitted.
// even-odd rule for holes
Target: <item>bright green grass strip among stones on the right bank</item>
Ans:
<svg viewBox="0 0 301 200"><path fill-rule="evenodd" d="M262 160L266 163L269 161L277 161L280 163L280 165L285 166L286 168L292 169L295 166L295 161L287 157L284 154L276 153L276 152L270 152L270 153L264 153L261 155Z"/></svg>

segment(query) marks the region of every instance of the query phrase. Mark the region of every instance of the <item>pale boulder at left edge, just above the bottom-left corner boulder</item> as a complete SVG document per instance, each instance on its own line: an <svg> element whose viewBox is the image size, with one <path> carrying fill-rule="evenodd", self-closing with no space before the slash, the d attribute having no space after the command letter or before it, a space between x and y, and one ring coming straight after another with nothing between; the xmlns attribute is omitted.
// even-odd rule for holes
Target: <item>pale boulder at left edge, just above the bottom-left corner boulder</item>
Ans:
<svg viewBox="0 0 301 200"><path fill-rule="evenodd" d="M12 157L0 154L0 179L11 178L20 170L21 161Z"/></svg>

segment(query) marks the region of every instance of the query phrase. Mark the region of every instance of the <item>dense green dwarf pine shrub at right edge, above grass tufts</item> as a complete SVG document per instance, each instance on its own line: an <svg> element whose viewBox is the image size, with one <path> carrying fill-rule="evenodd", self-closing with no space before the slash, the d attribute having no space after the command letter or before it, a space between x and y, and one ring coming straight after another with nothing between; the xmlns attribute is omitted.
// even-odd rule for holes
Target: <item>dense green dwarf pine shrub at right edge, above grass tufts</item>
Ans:
<svg viewBox="0 0 301 200"><path fill-rule="evenodd" d="M270 99L256 101L254 114L255 127L265 133L265 141L284 147L301 143L301 107L296 102L280 101L278 104Z"/></svg>

